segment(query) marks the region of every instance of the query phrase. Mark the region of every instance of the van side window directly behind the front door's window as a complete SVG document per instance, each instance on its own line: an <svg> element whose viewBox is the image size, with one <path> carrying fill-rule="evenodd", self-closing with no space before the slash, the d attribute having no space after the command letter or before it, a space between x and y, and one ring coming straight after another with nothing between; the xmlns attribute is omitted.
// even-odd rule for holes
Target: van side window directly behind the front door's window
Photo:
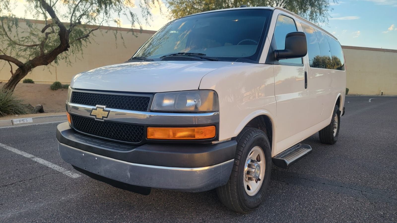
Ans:
<svg viewBox="0 0 397 223"><path fill-rule="evenodd" d="M301 23L303 32L306 34L307 54L309 56L310 67L321 68L320 45L318 44L317 35L314 28Z"/></svg>

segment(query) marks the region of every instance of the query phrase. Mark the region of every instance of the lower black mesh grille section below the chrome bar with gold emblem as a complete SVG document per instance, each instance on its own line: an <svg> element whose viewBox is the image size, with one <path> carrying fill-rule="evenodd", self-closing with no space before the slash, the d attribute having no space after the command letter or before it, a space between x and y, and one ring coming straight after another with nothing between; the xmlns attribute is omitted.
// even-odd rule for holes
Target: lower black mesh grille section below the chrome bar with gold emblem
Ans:
<svg viewBox="0 0 397 223"><path fill-rule="evenodd" d="M144 127L106 121L96 121L77 115L71 115L73 127L82 133L103 138L138 143L143 140Z"/></svg>

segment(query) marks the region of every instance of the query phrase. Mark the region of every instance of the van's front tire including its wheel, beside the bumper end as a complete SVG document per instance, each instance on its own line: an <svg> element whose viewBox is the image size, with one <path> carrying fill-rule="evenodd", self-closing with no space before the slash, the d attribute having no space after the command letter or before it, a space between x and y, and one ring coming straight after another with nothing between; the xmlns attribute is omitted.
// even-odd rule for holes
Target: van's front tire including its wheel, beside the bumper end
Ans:
<svg viewBox="0 0 397 223"><path fill-rule="evenodd" d="M268 190L272 154L265 133L246 127L237 136L233 169L226 185L216 188L219 200L233 211L247 213L257 208Z"/></svg>

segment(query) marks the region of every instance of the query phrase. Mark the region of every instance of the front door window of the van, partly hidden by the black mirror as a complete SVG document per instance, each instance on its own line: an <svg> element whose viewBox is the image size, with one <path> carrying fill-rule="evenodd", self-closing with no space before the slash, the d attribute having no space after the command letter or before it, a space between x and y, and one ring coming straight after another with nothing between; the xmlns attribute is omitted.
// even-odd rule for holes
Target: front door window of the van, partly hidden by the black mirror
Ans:
<svg viewBox="0 0 397 223"><path fill-rule="evenodd" d="M273 35L273 39L276 40L276 49L284 50L285 37L287 36L288 33L296 32L296 31L297 31L297 27L293 19L285 15L279 15L277 17L276 28L274 29L274 35ZM279 60L279 62L302 64L302 58Z"/></svg>

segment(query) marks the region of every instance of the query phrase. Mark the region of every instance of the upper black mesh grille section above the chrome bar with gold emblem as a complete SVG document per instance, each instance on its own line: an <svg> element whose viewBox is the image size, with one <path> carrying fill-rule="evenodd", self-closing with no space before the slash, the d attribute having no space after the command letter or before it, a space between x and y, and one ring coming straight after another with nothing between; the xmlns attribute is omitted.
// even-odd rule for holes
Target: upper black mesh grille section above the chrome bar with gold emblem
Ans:
<svg viewBox="0 0 397 223"><path fill-rule="evenodd" d="M96 106L104 105L106 108L125 109L145 112L148 110L150 97L130 96L118 94L97 94L75 91L72 93L71 102Z"/></svg>

